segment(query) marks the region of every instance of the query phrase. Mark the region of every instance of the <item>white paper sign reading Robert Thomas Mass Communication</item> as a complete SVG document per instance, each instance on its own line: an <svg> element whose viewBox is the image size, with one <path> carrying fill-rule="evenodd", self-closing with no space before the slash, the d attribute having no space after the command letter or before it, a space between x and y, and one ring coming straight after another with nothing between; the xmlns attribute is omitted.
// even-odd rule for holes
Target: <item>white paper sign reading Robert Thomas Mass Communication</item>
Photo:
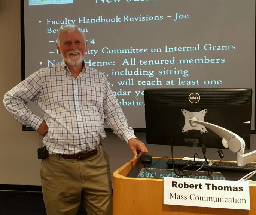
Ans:
<svg viewBox="0 0 256 215"><path fill-rule="evenodd" d="M165 177L164 204L250 210L249 182Z"/></svg>

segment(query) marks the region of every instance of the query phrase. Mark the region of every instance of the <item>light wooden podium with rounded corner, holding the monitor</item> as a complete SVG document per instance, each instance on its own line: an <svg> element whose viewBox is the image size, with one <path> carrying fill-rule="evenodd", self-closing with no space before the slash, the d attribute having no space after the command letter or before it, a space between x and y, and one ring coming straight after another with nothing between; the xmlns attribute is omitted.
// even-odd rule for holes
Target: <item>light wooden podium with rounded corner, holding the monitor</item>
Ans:
<svg viewBox="0 0 256 215"><path fill-rule="evenodd" d="M134 158L113 173L113 215L256 215L256 185L250 185L250 210L163 204L163 180L127 177Z"/></svg>

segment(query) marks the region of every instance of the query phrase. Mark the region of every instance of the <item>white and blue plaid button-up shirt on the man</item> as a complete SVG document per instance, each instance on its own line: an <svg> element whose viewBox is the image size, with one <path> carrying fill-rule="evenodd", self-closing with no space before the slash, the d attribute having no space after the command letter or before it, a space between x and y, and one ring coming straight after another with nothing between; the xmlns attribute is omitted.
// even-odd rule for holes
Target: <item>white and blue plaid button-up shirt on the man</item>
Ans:
<svg viewBox="0 0 256 215"><path fill-rule="evenodd" d="M88 66L76 79L65 62L42 68L4 95L16 120L37 130L43 119L26 106L36 102L48 133L43 144L50 154L75 154L95 149L106 138L104 122L119 138L136 138L103 72Z"/></svg>

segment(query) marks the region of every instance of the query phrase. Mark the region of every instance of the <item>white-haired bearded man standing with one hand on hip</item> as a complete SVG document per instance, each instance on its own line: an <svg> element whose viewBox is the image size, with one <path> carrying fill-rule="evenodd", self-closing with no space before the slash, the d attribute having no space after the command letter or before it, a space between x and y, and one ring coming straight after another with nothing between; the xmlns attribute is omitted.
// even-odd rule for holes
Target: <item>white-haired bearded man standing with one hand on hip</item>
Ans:
<svg viewBox="0 0 256 215"><path fill-rule="evenodd" d="M83 58L85 35L75 25L58 31L60 64L39 69L4 95L7 110L43 136L48 156L40 175L48 215L77 214L80 202L88 215L111 214L111 175L101 140L106 123L128 143L133 155L147 153L137 140L103 72ZM43 119L26 106L34 101Z"/></svg>

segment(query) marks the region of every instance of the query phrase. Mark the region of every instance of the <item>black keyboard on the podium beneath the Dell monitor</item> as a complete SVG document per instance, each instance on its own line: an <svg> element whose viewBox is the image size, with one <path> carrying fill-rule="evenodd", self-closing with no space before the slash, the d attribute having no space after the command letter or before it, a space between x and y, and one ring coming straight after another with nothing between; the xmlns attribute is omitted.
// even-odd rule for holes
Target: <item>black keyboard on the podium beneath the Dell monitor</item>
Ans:
<svg viewBox="0 0 256 215"><path fill-rule="evenodd" d="M185 167L188 164L194 164L195 163L194 161L185 161L185 160L182 160L182 159L174 159L173 161L174 161L174 165L176 164L179 169ZM196 170L196 169L199 168L199 166L202 165L202 163L204 165L203 165L203 168L200 171L208 171L208 169L209 169L208 164L206 162L202 162L202 161L198 161L198 163L197 163L198 165L197 166L195 166L195 165L188 166L186 168L183 168L183 170ZM210 168L209 170L212 171L215 168L217 163L218 163L218 161L216 161L212 165L212 168ZM167 161L166 164L171 169L173 169L173 163L172 163L171 160ZM177 169L177 167L175 166L176 169ZM215 172L217 170L252 172L252 171L256 170L256 165L252 164L252 163L249 163L249 164L246 164L244 166L237 166L236 163L220 162L219 165L217 165L216 168L214 169Z"/></svg>

